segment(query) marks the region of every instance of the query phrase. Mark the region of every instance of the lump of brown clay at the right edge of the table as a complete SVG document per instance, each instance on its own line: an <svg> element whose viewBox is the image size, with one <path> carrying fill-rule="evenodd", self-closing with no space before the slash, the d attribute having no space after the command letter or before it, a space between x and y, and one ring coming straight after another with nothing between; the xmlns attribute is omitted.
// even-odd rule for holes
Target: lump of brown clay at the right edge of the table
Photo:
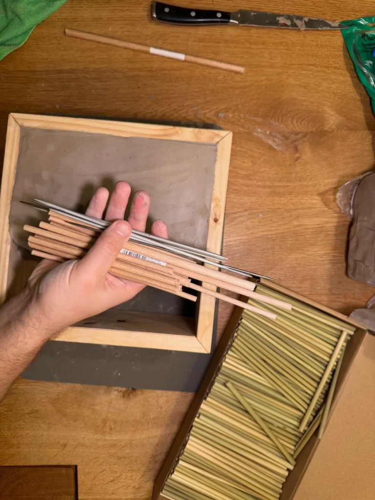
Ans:
<svg viewBox="0 0 375 500"><path fill-rule="evenodd" d="M365 175L352 201L347 274L375 286L375 172Z"/></svg>

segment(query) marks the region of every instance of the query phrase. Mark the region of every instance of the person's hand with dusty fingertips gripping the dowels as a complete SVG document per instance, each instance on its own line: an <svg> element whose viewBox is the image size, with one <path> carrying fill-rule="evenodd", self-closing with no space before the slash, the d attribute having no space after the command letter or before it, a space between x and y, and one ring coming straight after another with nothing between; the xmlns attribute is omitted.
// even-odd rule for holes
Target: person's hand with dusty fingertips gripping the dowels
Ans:
<svg viewBox="0 0 375 500"><path fill-rule="evenodd" d="M86 214L102 218L108 195L106 188L97 189ZM24 303L21 310L23 323L32 321L37 334L49 338L77 321L129 300L144 287L108 273L131 229L145 229L149 196L144 191L134 194L126 222L123 217L129 195L127 182L115 184L105 214L105 220L114 222L102 232L81 260L56 264L44 259L36 266L24 292L27 299L24 300L24 296L19 299ZM167 237L165 223L156 220L151 233Z"/></svg>

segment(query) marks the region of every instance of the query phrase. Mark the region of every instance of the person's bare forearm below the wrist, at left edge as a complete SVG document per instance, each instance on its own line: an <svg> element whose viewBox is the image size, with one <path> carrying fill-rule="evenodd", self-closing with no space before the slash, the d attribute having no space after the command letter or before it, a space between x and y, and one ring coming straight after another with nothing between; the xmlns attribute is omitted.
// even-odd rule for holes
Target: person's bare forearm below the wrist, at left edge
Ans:
<svg viewBox="0 0 375 500"><path fill-rule="evenodd" d="M39 318L24 308L27 299L23 291L0 310L0 401L49 337Z"/></svg>

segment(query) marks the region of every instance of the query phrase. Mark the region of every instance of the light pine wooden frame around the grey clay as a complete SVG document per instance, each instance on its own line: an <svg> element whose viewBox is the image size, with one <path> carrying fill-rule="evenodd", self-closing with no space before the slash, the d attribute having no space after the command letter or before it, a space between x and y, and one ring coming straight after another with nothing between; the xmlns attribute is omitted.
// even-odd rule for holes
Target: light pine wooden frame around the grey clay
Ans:
<svg viewBox="0 0 375 500"><path fill-rule="evenodd" d="M18 159L21 127L215 144L217 154L208 222L207 249L216 253L220 252L224 222L226 184L229 169L231 132L112 120L10 113L6 134L0 194L0 304L5 301L9 291L12 266L14 267L13 262L17 254L17 247L9 235L8 219ZM214 289L212 285L204 284L204 286ZM209 352L211 347L214 307L215 298L206 294L200 296L195 334L191 332L191 329L189 330L187 325L180 325L176 333L160 333L160 328L155 331L131 331L73 326L61 332L55 340L205 353Z"/></svg>

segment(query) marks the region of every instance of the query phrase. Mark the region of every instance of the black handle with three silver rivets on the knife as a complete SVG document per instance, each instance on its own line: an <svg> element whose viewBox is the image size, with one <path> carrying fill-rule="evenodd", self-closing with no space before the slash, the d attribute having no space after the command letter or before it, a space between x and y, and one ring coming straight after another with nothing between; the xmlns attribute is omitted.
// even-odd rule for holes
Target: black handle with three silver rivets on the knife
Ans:
<svg viewBox="0 0 375 500"><path fill-rule="evenodd" d="M151 5L153 19L173 24L228 24L230 12L224 10L204 10L185 8L154 1Z"/></svg>

